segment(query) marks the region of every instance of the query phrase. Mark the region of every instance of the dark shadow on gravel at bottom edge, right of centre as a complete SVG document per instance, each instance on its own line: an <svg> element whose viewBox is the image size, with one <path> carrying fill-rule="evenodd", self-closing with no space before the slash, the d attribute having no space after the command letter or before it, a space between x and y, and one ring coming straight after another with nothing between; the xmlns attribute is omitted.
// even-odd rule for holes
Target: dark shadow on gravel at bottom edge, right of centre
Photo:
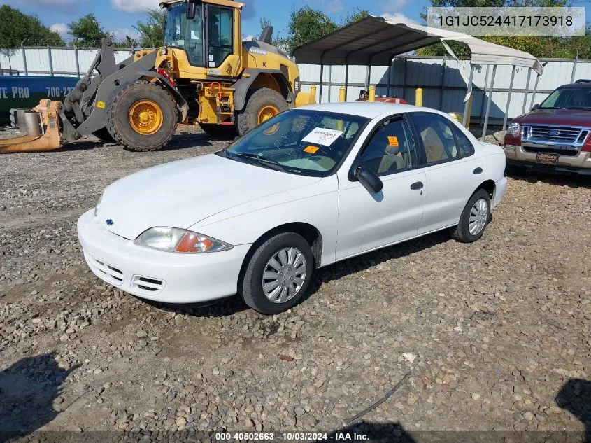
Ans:
<svg viewBox="0 0 591 443"><path fill-rule="evenodd" d="M371 423L362 421L347 428L334 430L328 434L327 440L318 442L391 442L391 443L416 443L400 423Z"/></svg>

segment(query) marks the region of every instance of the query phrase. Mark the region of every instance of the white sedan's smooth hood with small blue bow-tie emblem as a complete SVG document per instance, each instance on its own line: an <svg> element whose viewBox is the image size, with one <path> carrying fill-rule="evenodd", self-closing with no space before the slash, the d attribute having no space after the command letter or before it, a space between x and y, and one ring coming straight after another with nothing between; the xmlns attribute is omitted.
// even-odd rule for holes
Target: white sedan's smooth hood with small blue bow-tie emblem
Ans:
<svg viewBox="0 0 591 443"><path fill-rule="evenodd" d="M150 227L187 228L239 204L319 180L201 155L145 169L109 185L97 217L107 230L135 239Z"/></svg>

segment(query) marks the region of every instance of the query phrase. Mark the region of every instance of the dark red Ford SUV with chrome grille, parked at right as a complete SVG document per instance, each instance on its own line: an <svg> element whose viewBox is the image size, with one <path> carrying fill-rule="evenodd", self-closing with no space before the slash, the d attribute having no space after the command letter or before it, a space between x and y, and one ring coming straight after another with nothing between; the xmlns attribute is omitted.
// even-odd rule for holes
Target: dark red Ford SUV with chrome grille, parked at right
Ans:
<svg viewBox="0 0 591 443"><path fill-rule="evenodd" d="M558 87L507 127L507 171L591 175L591 80Z"/></svg>

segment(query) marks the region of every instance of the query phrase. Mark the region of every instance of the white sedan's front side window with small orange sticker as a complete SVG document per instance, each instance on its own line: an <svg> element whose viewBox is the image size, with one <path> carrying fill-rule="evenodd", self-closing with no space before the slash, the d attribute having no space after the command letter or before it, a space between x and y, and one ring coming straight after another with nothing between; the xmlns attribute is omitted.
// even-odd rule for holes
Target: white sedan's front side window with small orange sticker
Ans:
<svg viewBox="0 0 591 443"><path fill-rule="evenodd" d="M361 164L378 176L416 166L416 150L404 118L378 127L361 156Z"/></svg>

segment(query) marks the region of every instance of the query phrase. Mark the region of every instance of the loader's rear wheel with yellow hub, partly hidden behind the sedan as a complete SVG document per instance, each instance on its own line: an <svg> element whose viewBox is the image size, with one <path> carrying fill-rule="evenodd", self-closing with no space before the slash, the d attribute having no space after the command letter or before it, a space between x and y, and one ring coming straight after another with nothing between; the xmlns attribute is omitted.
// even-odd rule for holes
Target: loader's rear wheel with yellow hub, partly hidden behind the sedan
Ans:
<svg viewBox="0 0 591 443"><path fill-rule="evenodd" d="M238 132L240 135L244 135L250 129L289 108L290 106L287 105L283 95L268 87L250 92L245 108L238 113Z"/></svg>

